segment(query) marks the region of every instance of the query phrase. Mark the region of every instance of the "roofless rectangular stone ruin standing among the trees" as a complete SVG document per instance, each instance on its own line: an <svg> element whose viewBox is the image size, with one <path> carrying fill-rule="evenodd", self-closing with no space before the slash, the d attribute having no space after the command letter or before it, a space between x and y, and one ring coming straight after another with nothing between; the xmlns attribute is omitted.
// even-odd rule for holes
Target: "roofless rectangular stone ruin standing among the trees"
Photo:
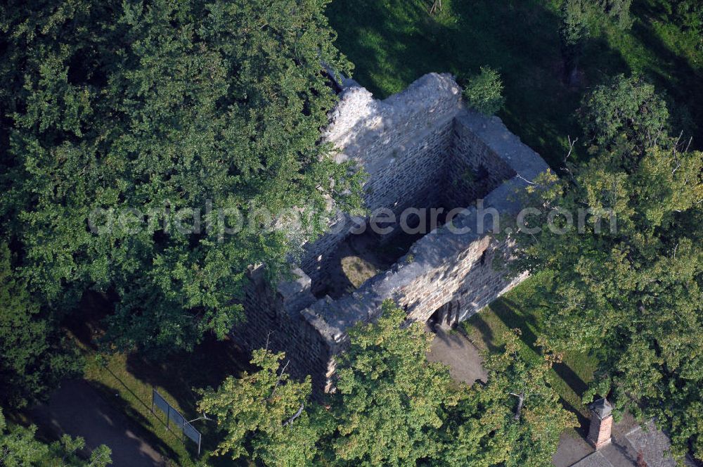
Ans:
<svg viewBox="0 0 703 467"><path fill-rule="evenodd" d="M339 149L338 160L353 159L368 173L368 210L458 215L444 224L439 219L425 235L393 229L359 236L392 254L380 255L380 272L355 290L335 288L337 251L359 242L353 233L359 219L341 212L329 233L304 245L293 269L297 280L272 288L261 268L250 271L247 321L233 338L247 350L285 351L288 371L311 375L316 395L333 388L334 356L347 345L347 330L375 319L384 300L404 307L408 319L456 324L520 283L526 274L509 277L494 265L496 255L510 256L509 240L491 234L499 229L495 215L514 216L520 205L513 194L548 168L498 117L465 108L451 75L430 73L382 101L352 80L345 84L323 139ZM472 206L479 198L483 210Z"/></svg>

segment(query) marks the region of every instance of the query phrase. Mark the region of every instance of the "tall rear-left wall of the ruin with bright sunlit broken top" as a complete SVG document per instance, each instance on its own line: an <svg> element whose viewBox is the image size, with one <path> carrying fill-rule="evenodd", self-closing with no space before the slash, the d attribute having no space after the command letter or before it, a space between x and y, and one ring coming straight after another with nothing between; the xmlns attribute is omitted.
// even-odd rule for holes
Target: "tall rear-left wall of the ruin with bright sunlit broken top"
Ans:
<svg viewBox="0 0 703 467"><path fill-rule="evenodd" d="M337 148L339 162L354 160L367 172L366 207L387 207L399 215L406 207L441 204L444 160L451 151L453 118L461 110L460 89L451 75L425 75L384 101L350 87L340 94L323 139ZM325 257L353 227L340 214L330 233L305 246L299 264L313 281L323 279Z"/></svg>

